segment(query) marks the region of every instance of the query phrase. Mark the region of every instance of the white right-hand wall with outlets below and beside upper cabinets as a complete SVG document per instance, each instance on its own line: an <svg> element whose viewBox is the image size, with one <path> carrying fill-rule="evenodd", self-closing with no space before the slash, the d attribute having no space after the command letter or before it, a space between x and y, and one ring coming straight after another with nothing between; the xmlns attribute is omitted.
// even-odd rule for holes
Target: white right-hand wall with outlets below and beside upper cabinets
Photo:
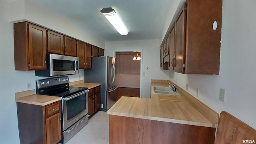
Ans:
<svg viewBox="0 0 256 144"><path fill-rule="evenodd" d="M170 72L170 80L220 113L225 110L256 129L255 0L223 0L220 75ZM177 81L176 81L177 79ZM220 88L226 90L219 101Z"/></svg>

